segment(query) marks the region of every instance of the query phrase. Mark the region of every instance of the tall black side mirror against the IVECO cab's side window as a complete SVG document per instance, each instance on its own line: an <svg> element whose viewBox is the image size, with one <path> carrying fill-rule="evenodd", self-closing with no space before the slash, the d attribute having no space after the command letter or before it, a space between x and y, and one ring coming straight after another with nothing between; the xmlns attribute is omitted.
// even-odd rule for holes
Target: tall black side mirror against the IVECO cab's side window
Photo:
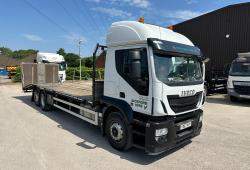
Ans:
<svg viewBox="0 0 250 170"><path fill-rule="evenodd" d="M129 51L129 70L130 76L134 79L141 78L141 51L140 50L131 50Z"/></svg>

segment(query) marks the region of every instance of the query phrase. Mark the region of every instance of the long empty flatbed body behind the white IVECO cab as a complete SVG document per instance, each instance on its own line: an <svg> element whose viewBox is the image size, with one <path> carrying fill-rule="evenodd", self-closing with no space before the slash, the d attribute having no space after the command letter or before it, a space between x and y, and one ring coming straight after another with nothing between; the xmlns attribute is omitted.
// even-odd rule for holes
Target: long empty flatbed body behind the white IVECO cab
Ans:
<svg viewBox="0 0 250 170"><path fill-rule="evenodd" d="M95 92L91 80L33 84L32 96L35 98L36 94L34 92L39 92L40 98L43 93L46 97L46 104L98 126L98 113L100 110L99 105L96 103L102 96L103 81L95 81L95 84L101 84L101 86L97 85ZM98 91L98 87L101 90ZM95 98L94 95L96 95ZM36 101L36 99L34 100Z"/></svg>

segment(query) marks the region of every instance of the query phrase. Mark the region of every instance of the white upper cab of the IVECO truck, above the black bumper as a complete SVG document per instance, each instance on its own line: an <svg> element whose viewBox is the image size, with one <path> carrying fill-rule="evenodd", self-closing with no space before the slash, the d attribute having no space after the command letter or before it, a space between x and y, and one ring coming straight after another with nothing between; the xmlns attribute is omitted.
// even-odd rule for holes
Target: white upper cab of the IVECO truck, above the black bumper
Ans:
<svg viewBox="0 0 250 170"><path fill-rule="evenodd" d="M201 52L185 36L154 25L117 22L109 30L107 46L104 96L153 116L201 107Z"/></svg>

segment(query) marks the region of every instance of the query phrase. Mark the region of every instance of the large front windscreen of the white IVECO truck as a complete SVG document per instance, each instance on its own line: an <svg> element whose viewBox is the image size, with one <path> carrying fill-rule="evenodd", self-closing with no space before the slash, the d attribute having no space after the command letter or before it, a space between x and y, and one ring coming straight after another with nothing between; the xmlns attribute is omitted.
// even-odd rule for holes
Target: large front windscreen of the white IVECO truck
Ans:
<svg viewBox="0 0 250 170"><path fill-rule="evenodd" d="M199 84L203 82L201 63L197 57L154 54L158 80L171 84Z"/></svg>

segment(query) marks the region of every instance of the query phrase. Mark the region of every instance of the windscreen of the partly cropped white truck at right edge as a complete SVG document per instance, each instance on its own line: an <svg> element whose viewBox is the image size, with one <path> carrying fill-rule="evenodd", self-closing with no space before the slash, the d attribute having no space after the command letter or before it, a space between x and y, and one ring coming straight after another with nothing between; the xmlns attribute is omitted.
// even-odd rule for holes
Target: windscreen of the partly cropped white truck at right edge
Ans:
<svg viewBox="0 0 250 170"><path fill-rule="evenodd" d="M232 76L250 76L250 57L236 59L232 63L229 74Z"/></svg>

